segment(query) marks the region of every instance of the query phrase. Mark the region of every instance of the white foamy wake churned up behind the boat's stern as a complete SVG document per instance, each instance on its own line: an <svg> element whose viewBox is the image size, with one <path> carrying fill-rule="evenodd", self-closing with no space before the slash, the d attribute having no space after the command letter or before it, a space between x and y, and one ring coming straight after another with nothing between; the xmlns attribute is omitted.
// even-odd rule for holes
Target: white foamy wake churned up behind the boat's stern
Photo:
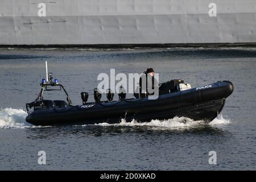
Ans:
<svg viewBox="0 0 256 182"><path fill-rule="evenodd" d="M5 108L0 110L0 128L22 128L31 126L26 122L26 111L22 109Z"/></svg>

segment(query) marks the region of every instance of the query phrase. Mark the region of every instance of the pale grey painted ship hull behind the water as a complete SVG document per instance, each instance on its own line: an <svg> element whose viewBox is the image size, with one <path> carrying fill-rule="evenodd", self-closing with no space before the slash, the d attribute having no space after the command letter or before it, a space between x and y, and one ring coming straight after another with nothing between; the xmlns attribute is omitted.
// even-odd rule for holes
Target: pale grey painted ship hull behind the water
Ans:
<svg viewBox="0 0 256 182"><path fill-rule="evenodd" d="M46 4L46 17L38 4ZM208 14L216 3L217 16ZM255 0L0 0L0 45L256 43Z"/></svg>

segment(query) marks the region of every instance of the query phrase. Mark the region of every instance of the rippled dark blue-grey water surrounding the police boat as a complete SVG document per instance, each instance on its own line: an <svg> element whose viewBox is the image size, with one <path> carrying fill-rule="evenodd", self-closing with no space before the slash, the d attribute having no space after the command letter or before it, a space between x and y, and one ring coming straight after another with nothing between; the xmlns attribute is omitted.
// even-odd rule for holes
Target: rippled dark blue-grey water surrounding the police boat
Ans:
<svg viewBox="0 0 256 182"><path fill-rule="evenodd" d="M229 80L235 90L209 125L175 118L35 127L26 123L23 109L40 90L45 61L73 104L81 104L80 92L92 94L98 74L109 74L110 68L117 74L152 67L160 82L181 78L192 87ZM255 170L255 69L256 49L245 47L0 49L0 169ZM63 99L64 94L45 97ZM39 151L46 152L46 165L38 164ZM209 151L216 151L216 165L209 164Z"/></svg>

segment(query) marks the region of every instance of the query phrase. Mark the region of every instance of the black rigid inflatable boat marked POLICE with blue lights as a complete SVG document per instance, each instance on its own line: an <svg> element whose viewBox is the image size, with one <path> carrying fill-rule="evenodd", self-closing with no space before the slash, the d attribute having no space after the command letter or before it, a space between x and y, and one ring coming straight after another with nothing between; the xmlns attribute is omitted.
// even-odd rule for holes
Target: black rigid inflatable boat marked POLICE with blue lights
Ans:
<svg viewBox="0 0 256 182"><path fill-rule="evenodd" d="M57 80L42 81L41 92L34 102L26 104L28 116L26 121L33 125L85 125L94 123L119 123L121 119L130 122L148 122L151 119L170 119L176 116L188 117L193 120L210 122L221 112L225 100L232 94L234 86L230 81L218 81L209 85L187 90L177 90L177 84L182 80L171 80L159 87L159 97L149 100L148 97L125 99L119 96L119 101L101 102L99 94L94 92L96 102L86 103L88 93L82 92L83 105L72 106L71 100L63 85ZM67 102L44 100L42 94L49 87L59 87L67 94ZM97 91L97 90L96 90ZM113 95L108 95L112 97ZM108 97L107 96L107 97ZM108 97L108 98L109 98ZM34 111L30 109L34 107Z"/></svg>

